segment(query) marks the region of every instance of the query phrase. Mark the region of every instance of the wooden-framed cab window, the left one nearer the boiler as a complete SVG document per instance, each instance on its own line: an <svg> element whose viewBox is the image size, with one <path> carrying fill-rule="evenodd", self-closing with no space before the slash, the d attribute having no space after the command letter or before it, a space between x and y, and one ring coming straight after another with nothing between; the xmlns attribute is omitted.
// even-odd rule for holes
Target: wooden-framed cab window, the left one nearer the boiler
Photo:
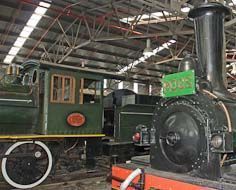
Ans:
<svg viewBox="0 0 236 190"><path fill-rule="evenodd" d="M71 76L52 75L51 102L75 103L75 78Z"/></svg>

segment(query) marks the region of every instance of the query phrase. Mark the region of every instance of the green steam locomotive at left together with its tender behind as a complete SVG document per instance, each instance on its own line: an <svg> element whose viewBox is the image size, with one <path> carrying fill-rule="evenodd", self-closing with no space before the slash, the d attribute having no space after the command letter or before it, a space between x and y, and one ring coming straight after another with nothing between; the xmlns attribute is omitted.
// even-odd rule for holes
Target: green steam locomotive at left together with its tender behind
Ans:
<svg viewBox="0 0 236 190"><path fill-rule="evenodd" d="M102 148L105 155L118 154L122 161L135 147L150 146L159 97L117 90L104 99L106 75L35 61L0 69L0 158L6 182L28 189L55 173L64 155L91 167ZM104 142L105 135L112 140ZM71 165L66 160L66 166Z"/></svg>

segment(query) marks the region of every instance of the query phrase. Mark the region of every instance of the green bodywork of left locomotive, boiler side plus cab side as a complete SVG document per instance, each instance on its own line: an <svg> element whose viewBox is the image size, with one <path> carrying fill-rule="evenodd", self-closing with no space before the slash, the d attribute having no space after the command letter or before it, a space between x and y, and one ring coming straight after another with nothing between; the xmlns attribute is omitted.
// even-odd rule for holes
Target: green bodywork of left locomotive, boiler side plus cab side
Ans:
<svg viewBox="0 0 236 190"><path fill-rule="evenodd" d="M31 87L0 83L0 134L96 134L102 131L103 76L73 70L48 69L40 93L38 86ZM75 104L51 103L50 80L52 74L73 76L76 80ZM99 103L79 104L79 80L81 78L101 81ZM43 85L43 84L41 84ZM43 92L43 93L42 93ZM5 100L7 99L7 100ZM10 99L10 100L9 100ZM15 99L15 100L11 100ZM29 101L26 101L29 100ZM70 113L79 112L86 117L81 127L67 123Z"/></svg>

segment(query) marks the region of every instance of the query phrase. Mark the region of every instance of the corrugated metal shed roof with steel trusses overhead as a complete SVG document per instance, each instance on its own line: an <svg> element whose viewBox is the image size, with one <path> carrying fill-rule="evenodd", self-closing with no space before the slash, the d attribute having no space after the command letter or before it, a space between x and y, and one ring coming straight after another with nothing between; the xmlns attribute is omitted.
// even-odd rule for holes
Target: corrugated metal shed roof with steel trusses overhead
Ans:
<svg viewBox="0 0 236 190"><path fill-rule="evenodd" d="M1 0L0 2L0 62L3 62L14 41L25 26L38 0ZM141 80L160 79L163 74L176 72L178 61L158 64L176 56L179 51L194 51L192 23L186 14L174 10L190 1L157 0L52 0L51 6L33 33L16 55L14 62L21 64L27 59L103 69L117 72L142 56L146 39L156 48L172 39L177 40L170 50L163 50L128 70L128 77ZM177 1L176 1L177 2ZM190 6L193 3L190 2ZM137 15L167 11L164 22L139 24ZM182 17L168 21L169 17ZM135 17L131 25L121 18ZM227 40L235 38L235 26L227 28ZM43 36L43 37L42 37ZM186 44L187 43L187 44ZM235 41L227 44L235 46ZM184 48L183 48L184 47ZM179 53L181 58L181 53Z"/></svg>

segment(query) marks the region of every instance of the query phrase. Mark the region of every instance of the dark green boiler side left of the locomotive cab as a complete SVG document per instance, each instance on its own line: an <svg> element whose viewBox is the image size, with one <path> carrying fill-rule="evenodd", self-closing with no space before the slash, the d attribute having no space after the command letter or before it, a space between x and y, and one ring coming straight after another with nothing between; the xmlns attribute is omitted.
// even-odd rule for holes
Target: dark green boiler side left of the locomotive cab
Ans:
<svg viewBox="0 0 236 190"><path fill-rule="evenodd" d="M37 86L0 84L0 134L32 133L38 121Z"/></svg>

